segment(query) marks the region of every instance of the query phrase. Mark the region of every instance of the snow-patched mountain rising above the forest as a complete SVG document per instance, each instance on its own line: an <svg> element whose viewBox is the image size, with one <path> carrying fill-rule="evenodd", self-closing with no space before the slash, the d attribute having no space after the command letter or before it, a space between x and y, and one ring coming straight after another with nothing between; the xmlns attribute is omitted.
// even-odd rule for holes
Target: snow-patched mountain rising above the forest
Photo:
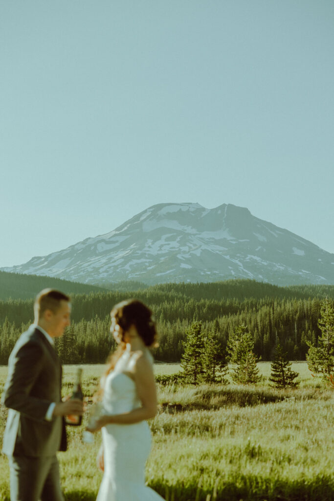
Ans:
<svg viewBox="0 0 334 501"><path fill-rule="evenodd" d="M163 203L110 233L2 270L83 283L249 278L279 285L334 284L334 255L247 208Z"/></svg>

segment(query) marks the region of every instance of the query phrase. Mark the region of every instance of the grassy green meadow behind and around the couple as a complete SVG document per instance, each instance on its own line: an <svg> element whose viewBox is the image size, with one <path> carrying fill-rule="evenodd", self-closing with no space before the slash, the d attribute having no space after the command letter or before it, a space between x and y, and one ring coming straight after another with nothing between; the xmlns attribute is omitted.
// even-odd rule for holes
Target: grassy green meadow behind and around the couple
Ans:
<svg viewBox="0 0 334 501"><path fill-rule="evenodd" d="M258 364L257 386L232 384L159 387L159 411L150 421L152 451L147 483L168 501L334 500L334 390L312 378L304 362L294 390L268 386L270 363ZM103 365L84 366L89 402ZM171 374L178 364L156 364ZM63 394L71 391L75 366L64 367ZM7 367L0 367L0 391ZM2 439L6 409L0 409ZM59 453L66 501L93 501L102 473L82 429L68 427L69 449ZM0 498L9 501L7 458L0 457ZM131 500L129 500L131 501ZM143 500L144 501L144 500Z"/></svg>

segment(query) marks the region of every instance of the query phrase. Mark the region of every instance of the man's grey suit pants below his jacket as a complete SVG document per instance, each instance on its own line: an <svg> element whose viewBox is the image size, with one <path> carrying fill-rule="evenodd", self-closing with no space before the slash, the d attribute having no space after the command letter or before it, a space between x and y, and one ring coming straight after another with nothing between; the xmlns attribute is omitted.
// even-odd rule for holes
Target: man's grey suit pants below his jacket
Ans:
<svg viewBox="0 0 334 501"><path fill-rule="evenodd" d="M64 501L53 456L10 456L11 501Z"/></svg>

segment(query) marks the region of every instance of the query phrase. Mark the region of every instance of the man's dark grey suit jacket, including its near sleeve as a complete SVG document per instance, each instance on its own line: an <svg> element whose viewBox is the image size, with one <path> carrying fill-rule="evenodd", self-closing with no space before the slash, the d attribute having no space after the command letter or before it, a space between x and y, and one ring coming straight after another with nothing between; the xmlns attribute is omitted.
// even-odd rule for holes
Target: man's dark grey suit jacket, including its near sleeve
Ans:
<svg viewBox="0 0 334 501"><path fill-rule="evenodd" d="M31 326L17 341L8 361L3 402L9 407L3 452L51 456L66 450L65 421L46 421L52 402L61 401L62 366L44 334Z"/></svg>

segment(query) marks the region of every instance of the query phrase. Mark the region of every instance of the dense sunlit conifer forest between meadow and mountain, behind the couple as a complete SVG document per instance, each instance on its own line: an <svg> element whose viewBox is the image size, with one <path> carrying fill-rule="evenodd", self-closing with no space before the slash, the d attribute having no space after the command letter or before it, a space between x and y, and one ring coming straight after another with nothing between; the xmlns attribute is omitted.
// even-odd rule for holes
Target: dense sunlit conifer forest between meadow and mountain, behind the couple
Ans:
<svg viewBox="0 0 334 501"><path fill-rule="evenodd" d="M129 292L75 295L72 325L57 349L63 363L104 363L114 344L109 313L129 295L146 303L157 320L159 347L156 360L180 361L186 330L201 321L223 347L237 325L244 323L254 339L254 352L271 360L277 342L290 360L304 360L307 341L317 343L320 301L334 298L334 286L277 287L249 280L212 284L163 284ZM33 321L33 300L0 301L0 364Z"/></svg>

